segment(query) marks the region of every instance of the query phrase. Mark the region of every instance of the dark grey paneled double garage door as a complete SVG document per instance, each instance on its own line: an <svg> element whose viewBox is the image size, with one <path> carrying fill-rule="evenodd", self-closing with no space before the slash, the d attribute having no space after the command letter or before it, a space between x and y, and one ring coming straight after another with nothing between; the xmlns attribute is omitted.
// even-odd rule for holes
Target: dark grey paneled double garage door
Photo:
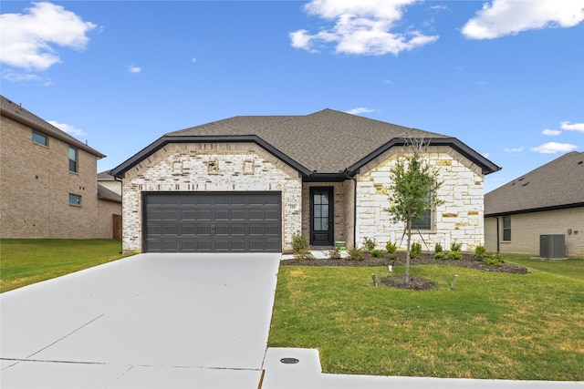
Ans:
<svg viewBox="0 0 584 389"><path fill-rule="evenodd" d="M280 252L280 192L145 193L146 252Z"/></svg>

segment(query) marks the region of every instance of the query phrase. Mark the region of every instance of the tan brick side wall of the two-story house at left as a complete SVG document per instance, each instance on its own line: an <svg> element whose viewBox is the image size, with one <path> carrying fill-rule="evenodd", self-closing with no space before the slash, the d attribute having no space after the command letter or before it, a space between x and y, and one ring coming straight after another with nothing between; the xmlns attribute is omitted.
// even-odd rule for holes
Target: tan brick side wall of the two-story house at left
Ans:
<svg viewBox="0 0 584 389"><path fill-rule="evenodd" d="M97 158L78 149L78 172L68 169L68 143L32 141L33 129L0 118L0 237L95 238ZM69 205L69 193L81 205Z"/></svg>

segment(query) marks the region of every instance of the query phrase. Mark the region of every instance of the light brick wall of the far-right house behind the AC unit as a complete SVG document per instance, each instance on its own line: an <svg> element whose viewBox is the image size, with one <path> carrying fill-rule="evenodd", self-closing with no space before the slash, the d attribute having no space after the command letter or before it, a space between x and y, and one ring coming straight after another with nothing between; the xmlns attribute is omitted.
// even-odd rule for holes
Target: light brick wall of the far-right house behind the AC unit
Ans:
<svg viewBox="0 0 584 389"><path fill-rule="evenodd" d="M565 236L565 255L584 258L584 207L509 215L511 241L503 241L503 216L499 216L499 252L539 256L539 236ZM485 249L497 251L496 218L485 218ZM568 233L571 230L571 233Z"/></svg>

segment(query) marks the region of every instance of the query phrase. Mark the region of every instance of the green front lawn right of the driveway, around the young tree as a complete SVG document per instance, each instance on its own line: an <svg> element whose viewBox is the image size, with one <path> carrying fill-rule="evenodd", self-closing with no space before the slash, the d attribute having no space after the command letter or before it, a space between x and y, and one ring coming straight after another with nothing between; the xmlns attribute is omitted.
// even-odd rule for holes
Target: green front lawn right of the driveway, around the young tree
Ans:
<svg viewBox="0 0 584 389"><path fill-rule="evenodd" d="M584 261L505 260L533 272L418 265L438 287L415 292L374 287L385 267L281 266L268 345L334 374L584 380Z"/></svg>

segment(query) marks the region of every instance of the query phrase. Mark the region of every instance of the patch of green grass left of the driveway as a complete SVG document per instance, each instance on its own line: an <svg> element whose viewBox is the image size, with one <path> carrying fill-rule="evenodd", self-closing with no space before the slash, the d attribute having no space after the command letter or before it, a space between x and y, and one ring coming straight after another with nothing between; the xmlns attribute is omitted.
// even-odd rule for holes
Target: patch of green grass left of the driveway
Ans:
<svg viewBox="0 0 584 389"><path fill-rule="evenodd" d="M114 240L0 240L0 292L119 260Z"/></svg>

